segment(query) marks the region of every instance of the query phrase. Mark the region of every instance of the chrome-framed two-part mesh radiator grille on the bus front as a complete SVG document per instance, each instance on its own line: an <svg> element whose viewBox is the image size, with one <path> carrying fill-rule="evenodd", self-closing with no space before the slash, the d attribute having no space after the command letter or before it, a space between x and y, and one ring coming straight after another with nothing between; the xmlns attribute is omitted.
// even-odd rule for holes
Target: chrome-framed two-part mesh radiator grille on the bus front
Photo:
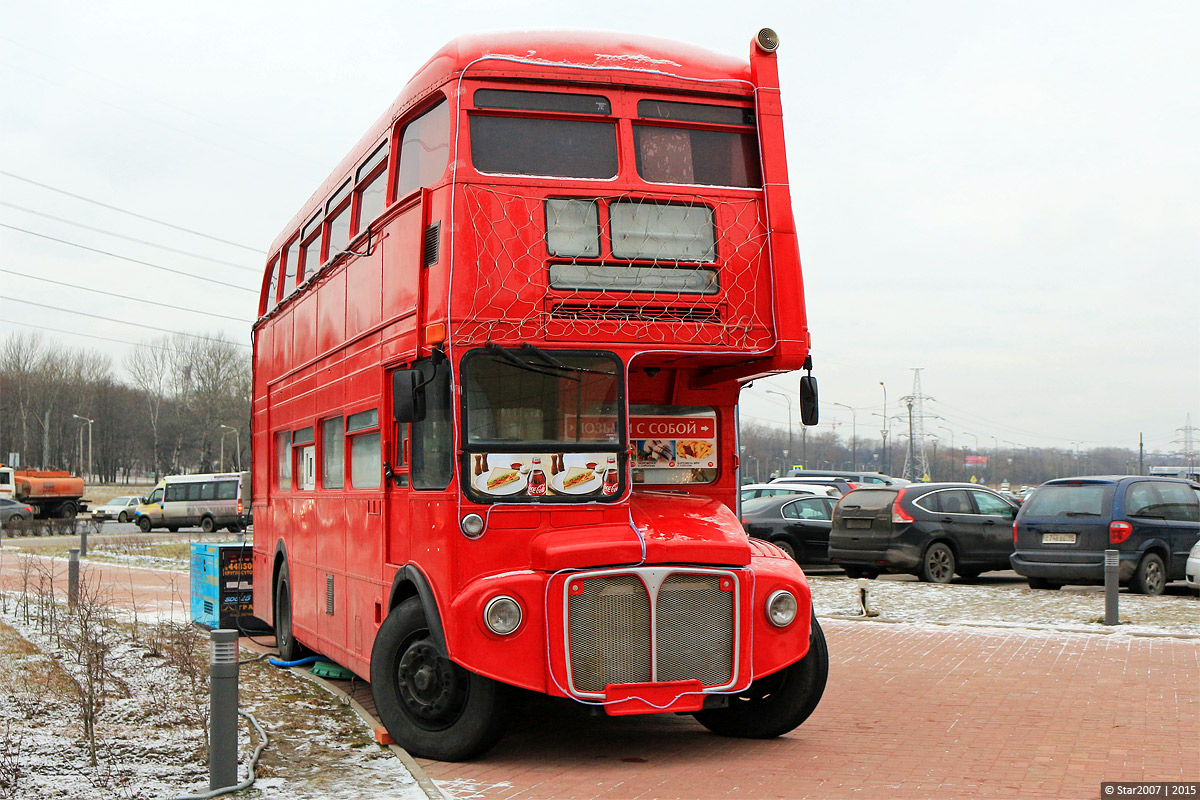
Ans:
<svg viewBox="0 0 1200 800"><path fill-rule="evenodd" d="M739 573L730 570L569 575L563 613L571 693L602 698L610 684L676 680L730 688L738 674L739 591Z"/></svg>

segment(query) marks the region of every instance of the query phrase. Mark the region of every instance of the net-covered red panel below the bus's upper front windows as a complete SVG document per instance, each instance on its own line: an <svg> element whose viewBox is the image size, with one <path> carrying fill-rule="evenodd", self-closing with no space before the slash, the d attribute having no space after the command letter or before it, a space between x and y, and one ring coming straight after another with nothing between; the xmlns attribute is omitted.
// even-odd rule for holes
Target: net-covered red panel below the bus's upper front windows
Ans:
<svg viewBox="0 0 1200 800"><path fill-rule="evenodd" d="M757 199L462 191L455 341L772 343Z"/></svg>

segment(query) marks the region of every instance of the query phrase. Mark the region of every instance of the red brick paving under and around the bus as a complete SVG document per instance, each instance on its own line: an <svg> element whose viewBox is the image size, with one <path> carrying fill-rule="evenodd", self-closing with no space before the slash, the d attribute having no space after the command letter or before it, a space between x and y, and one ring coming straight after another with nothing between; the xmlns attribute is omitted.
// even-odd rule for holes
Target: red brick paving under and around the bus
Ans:
<svg viewBox="0 0 1200 800"><path fill-rule="evenodd" d="M5 588L14 566L5 559ZM176 614L186 597L180 573L90 569L116 604L128 604L132 587L143 613L157 603ZM593 717L526 696L484 758L420 764L461 800L1093 799L1102 781L1200 781L1195 639L822 626L829 686L812 717L780 739L724 739L685 716Z"/></svg>

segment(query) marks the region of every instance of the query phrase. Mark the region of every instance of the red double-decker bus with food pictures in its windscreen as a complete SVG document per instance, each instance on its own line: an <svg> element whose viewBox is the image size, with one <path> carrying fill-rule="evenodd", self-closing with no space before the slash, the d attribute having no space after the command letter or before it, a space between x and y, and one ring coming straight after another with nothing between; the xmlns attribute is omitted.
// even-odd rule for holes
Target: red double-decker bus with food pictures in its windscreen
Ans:
<svg viewBox="0 0 1200 800"><path fill-rule="evenodd" d="M811 365L776 46L456 40L271 246L256 613L410 752L482 752L514 687L733 736L816 706L805 577L734 513L740 389Z"/></svg>

